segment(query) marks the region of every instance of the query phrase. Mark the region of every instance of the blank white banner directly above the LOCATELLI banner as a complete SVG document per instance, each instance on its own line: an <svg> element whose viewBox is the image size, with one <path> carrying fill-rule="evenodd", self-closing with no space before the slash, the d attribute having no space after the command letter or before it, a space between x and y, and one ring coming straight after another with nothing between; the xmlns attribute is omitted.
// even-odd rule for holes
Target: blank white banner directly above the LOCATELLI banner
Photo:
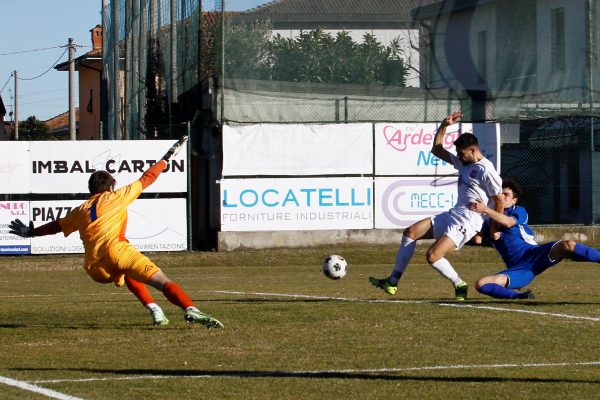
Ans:
<svg viewBox="0 0 600 400"><path fill-rule="evenodd" d="M223 126L223 176L372 173L372 124Z"/></svg>

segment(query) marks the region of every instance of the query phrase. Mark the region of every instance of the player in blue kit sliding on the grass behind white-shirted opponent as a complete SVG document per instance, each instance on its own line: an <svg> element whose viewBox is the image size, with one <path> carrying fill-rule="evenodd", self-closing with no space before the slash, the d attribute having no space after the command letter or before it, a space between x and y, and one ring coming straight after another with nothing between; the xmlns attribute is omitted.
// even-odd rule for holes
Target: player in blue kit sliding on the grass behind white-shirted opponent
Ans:
<svg viewBox="0 0 600 400"><path fill-rule="evenodd" d="M505 178L502 180L503 213L489 208L482 200L469 204L470 210L489 216L482 231L474 238L476 244L481 244L488 237L490 221L499 227L490 239L507 268L479 278L475 284L477 291L497 299L532 299L534 296L530 290L519 292L514 289L524 288L537 275L565 258L600 262L600 251L574 240L537 244L535 234L527 224L527 210L517 205L521 193L517 182Z"/></svg>

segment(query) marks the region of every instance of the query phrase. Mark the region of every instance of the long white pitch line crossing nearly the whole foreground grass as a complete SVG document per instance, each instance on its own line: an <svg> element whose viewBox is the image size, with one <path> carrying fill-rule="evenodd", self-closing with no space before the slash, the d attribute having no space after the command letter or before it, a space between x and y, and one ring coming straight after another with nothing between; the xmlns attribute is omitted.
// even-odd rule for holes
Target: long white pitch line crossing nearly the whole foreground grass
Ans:
<svg viewBox="0 0 600 400"><path fill-rule="evenodd" d="M430 365L423 367L400 367L400 368L369 368L369 369L330 369L330 370L312 370L312 371L247 371L247 373L234 371L215 371L214 374L199 375L132 375L112 378L81 378L81 379L49 379L39 380L34 383L63 383L63 382L94 382L94 381L121 381L121 380L142 380L142 379L198 379L198 378L260 378L271 376L286 376L299 378L306 375L336 375L336 374L377 374L386 372L413 372L413 371L442 371L459 369L510 369L510 368L552 368L552 367L581 367L598 366L600 361L582 361L582 362L560 362L560 363L523 363L523 364L472 364L472 365ZM348 376L352 378L352 376Z"/></svg>

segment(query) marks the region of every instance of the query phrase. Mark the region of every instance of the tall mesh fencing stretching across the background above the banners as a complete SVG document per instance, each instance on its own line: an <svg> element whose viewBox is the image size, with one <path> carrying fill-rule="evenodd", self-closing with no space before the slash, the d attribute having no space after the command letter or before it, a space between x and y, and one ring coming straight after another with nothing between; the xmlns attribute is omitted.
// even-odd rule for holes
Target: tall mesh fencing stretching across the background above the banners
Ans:
<svg viewBox="0 0 600 400"><path fill-rule="evenodd" d="M600 222L596 0L234 3L106 4L104 137L173 138L192 121L206 143L221 124L460 109L501 124L502 174L523 184L533 223Z"/></svg>

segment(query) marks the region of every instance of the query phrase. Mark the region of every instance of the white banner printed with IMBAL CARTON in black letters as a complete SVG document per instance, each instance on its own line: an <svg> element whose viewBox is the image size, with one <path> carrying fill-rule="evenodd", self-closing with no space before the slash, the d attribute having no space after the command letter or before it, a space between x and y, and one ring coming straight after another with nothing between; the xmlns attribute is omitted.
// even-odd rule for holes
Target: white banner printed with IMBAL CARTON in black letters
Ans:
<svg viewBox="0 0 600 400"><path fill-rule="evenodd" d="M87 193L90 174L108 171L117 188L139 179L160 160L173 140L29 142L32 193ZM25 155L25 154L24 154ZM176 193L187 188L186 149L145 192ZM12 192L9 192L12 193Z"/></svg>

